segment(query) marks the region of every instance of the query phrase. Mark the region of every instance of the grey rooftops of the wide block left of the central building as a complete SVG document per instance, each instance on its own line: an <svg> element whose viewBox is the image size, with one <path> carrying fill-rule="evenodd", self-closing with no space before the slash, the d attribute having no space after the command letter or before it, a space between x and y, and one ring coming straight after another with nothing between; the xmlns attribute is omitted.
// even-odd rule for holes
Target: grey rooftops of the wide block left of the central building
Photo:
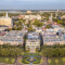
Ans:
<svg viewBox="0 0 65 65"><path fill-rule="evenodd" d="M0 36L0 40L4 42L22 42L24 35L21 30L12 30L4 36Z"/></svg>

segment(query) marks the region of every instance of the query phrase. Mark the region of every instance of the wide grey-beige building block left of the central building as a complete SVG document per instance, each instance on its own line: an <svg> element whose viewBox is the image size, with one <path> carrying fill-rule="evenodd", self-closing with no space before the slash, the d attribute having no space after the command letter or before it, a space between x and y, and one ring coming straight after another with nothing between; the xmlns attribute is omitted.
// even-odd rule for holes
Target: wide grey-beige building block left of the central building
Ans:
<svg viewBox="0 0 65 65"><path fill-rule="evenodd" d="M0 44L23 46L24 36L25 34L22 30L11 30L4 36L0 36Z"/></svg>

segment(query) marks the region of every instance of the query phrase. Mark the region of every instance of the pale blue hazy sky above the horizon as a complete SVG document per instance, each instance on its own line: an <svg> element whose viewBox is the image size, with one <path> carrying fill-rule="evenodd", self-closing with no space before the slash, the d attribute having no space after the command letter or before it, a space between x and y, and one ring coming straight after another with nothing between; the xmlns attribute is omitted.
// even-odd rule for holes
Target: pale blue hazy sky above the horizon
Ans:
<svg viewBox="0 0 65 65"><path fill-rule="evenodd" d="M0 10L65 10L65 0L0 0Z"/></svg>

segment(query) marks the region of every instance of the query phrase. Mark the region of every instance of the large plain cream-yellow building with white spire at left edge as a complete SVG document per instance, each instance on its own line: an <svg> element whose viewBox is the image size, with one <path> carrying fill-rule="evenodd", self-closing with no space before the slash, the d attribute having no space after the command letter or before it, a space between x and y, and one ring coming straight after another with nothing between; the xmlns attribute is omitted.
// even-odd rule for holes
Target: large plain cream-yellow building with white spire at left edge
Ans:
<svg viewBox="0 0 65 65"><path fill-rule="evenodd" d="M13 26L12 18L8 17L8 13L6 13L5 17L4 16L0 17L0 25L4 25L4 26L8 26L8 27Z"/></svg>

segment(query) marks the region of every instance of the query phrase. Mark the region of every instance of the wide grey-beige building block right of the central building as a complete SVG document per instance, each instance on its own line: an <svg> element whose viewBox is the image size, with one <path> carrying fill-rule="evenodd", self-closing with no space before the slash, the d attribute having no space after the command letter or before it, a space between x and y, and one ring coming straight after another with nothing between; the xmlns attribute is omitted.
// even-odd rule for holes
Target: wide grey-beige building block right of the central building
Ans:
<svg viewBox="0 0 65 65"><path fill-rule="evenodd" d="M43 44L65 44L63 35L56 35L55 31L42 31Z"/></svg>

